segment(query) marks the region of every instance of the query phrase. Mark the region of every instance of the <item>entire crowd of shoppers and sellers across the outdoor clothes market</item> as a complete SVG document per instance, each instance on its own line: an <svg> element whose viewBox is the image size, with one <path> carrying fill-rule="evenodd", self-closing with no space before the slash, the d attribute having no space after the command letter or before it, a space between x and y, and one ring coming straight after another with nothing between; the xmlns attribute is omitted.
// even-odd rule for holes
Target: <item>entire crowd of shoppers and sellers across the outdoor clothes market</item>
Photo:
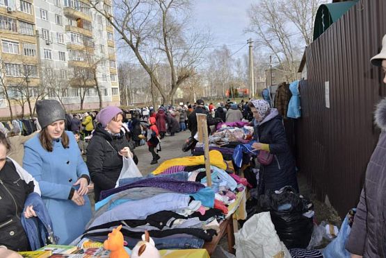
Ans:
<svg viewBox="0 0 386 258"><path fill-rule="evenodd" d="M386 72L386 35L383 50L372 59L373 65ZM386 83L386 77L384 79ZM357 215L348 239L347 250L353 257L383 257L385 254L382 189L385 175L385 100L376 110L376 123L383 129L367 168ZM138 163L134 148L147 142L152 164L160 156L160 143L166 135L189 129L192 139L198 131L196 114L206 114L210 128L218 123L244 121L253 126L254 150L273 155L274 160L259 166L259 193L291 186L299 191L295 160L287 143L278 110L265 100L240 103L195 103L161 105L124 112L118 107L104 107L99 112L69 117L58 101L36 103L41 130L23 141L13 141L0 132L0 257L9 250L31 250L43 236L28 227L38 217L45 225L45 238L52 243L69 244L83 233L90 221L88 198L94 184L95 200L99 193L113 189L125 162ZM128 116L128 114L130 114ZM130 120L128 119L130 118ZM86 137L86 141L83 141ZM24 146L23 151L10 150ZM22 165L22 166L21 166ZM26 226L27 225L27 226ZM43 243L47 243L43 241ZM42 242L40 242L42 243ZM7 250L7 248L9 250Z"/></svg>

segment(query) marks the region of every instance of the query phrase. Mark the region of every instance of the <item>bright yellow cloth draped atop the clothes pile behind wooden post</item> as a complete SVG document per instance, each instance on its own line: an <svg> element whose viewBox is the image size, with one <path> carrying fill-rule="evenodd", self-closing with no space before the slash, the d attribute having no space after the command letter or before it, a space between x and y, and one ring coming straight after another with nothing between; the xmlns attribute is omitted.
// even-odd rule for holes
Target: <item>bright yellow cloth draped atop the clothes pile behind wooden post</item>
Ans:
<svg viewBox="0 0 386 258"><path fill-rule="evenodd" d="M223 160L223 155L220 153L220 151L209 151L209 159L211 161L211 165L218 166L220 169L227 169L227 165L225 164ZM152 173L154 175L158 175L159 173L162 173L163 171L168 169L170 166L195 166L200 164L205 164L203 155L192 157L178 157L176 159L166 160L165 162L162 162L162 164L159 165L159 167Z"/></svg>

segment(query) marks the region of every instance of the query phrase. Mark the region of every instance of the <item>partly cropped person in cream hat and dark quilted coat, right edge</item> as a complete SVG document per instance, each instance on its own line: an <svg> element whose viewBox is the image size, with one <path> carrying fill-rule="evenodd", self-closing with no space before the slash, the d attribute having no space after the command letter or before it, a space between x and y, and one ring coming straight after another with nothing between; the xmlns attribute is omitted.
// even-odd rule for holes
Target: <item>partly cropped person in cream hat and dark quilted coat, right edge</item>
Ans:
<svg viewBox="0 0 386 258"><path fill-rule="evenodd" d="M382 50L371 58L371 63L382 67L385 74L383 83L386 84L386 35L383 36L382 45ZM352 258L386 257L386 98L378 103L374 117L382 131L367 165L360 202L346 243Z"/></svg>

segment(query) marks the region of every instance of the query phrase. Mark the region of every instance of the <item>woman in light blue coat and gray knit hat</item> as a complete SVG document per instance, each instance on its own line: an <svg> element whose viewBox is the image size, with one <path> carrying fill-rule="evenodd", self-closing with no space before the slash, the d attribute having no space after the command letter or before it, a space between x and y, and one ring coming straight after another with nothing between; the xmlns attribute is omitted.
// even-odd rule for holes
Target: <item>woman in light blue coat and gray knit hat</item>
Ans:
<svg viewBox="0 0 386 258"><path fill-rule="evenodd" d="M38 101L36 111L42 130L24 144L23 166L39 182L58 243L69 244L90 221L90 176L74 135L65 131L61 104Z"/></svg>

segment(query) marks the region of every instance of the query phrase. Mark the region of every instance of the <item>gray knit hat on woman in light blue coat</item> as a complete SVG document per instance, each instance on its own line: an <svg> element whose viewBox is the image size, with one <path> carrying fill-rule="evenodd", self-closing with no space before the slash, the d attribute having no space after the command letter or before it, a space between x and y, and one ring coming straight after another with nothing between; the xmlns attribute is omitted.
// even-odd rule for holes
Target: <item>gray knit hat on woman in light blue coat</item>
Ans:
<svg viewBox="0 0 386 258"><path fill-rule="evenodd" d="M42 128L58 120L65 120L65 111L59 101L54 99L44 99L36 102L36 112L38 121Z"/></svg>

